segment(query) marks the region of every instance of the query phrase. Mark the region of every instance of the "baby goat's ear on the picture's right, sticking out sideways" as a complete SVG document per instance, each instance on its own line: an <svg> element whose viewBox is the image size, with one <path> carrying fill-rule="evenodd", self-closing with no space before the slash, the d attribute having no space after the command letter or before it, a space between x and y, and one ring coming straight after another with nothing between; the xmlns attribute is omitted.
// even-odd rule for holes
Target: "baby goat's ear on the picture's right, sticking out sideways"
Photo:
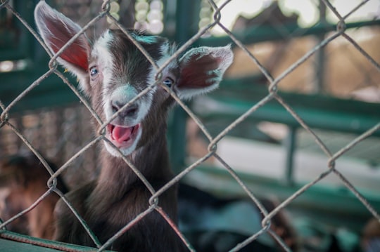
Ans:
<svg viewBox="0 0 380 252"><path fill-rule="evenodd" d="M179 60L181 73L175 85L179 98L189 99L213 91L233 58L231 46L203 46L189 50Z"/></svg>

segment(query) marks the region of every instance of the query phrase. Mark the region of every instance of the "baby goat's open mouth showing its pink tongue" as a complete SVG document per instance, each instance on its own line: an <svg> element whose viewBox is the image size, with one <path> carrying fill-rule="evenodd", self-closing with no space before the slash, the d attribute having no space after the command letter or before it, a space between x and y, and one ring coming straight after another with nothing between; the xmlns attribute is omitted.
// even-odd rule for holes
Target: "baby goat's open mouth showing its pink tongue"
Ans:
<svg viewBox="0 0 380 252"><path fill-rule="evenodd" d="M118 148L128 148L131 147L134 140L136 140L139 129L140 124L131 127L108 124L108 139Z"/></svg>

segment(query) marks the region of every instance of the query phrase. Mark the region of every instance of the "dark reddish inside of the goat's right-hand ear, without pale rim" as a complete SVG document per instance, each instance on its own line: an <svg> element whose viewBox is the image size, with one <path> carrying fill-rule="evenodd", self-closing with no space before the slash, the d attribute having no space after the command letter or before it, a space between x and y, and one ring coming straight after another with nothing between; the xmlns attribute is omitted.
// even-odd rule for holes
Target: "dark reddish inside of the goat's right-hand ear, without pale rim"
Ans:
<svg viewBox="0 0 380 252"><path fill-rule="evenodd" d="M205 88L214 85L213 79L218 77L215 70L218 69L220 60L211 54L201 56L196 53L191 55L182 66L181 77L177 84L178 88Z"/></svg>

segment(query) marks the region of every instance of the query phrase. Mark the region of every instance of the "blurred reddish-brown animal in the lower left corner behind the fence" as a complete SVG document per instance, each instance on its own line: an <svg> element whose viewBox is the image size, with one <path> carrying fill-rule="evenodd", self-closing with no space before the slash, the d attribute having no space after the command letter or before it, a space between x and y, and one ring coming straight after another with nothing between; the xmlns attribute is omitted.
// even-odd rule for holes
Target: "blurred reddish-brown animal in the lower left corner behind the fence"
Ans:
<svg viewBox="0 0 380 252"><path fill-rule="evenodd" d="M53 164L49 163L52 169ZM28 208L47 190L50 175L33 154L15 155L0 160L0 218L8 220ZM58 189L68 192L58 177ZM22 215L6 228L32 237L52 239L54 233L53 208L59 196L49 194L29 213Z"/></svg>

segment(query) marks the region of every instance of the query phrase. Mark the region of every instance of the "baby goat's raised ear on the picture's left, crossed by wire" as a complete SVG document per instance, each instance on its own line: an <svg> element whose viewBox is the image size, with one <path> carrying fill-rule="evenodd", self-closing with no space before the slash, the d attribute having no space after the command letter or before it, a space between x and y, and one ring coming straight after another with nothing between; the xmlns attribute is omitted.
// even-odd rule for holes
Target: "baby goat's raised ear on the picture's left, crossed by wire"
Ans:
<svg viewBox="0 0 380 252"><path fill-rule="evenodd" d="M62 13L40 1L34 10L39 34L52 53L57 53L65 44L80 31L81 27L65 17ZM79 79L87 76L89 67L90 45L87 37L82 34L58 57L58 62Z"/></svg>

